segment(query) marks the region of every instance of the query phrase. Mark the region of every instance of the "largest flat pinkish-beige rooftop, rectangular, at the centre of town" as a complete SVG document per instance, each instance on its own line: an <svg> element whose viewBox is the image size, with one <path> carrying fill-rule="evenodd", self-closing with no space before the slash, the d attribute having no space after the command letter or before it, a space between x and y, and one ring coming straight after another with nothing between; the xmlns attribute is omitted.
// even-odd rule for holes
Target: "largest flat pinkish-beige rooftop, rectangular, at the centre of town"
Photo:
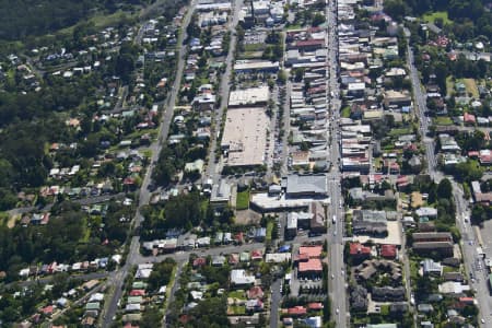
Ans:
<svg viewBox="0 0 492 328"><path fill-rule="evenodd" d="M226 166L255 166L265 162L269 119L263 108L227 110L221 148L227 152Z"/></svg>

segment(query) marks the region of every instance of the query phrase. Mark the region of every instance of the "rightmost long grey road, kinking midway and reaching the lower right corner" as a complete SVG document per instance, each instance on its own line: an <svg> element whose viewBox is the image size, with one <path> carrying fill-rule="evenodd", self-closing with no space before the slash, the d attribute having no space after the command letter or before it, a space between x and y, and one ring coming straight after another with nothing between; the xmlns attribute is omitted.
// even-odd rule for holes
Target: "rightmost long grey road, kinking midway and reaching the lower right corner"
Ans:
<svg viewBox="0 0 492 328"><path fill-rule="evenodd" d="M406 30L406 35L409 36L410 32ZM427 171L435 183L441 181L444 175L437 171L436 154L434 152L435 143L432 138L427 137L429 133L429 120L425 117L426 104L425 95L422 92L422 85L420 83L420 77L414 66L413 52L410 46L407 48L408 52L408 67L410 69L410 79L413 86L413 93L415 97L415 114L420 120L420 128L422 133L422 140L425 145L425 155L427 160ZM477 253L477 245L479 245L479 239L476 235L476 231L470 225L470 213L469 203L464 198L464 191L459 184L457 184L453 178L448 177L453 185L453 196L456 204L456 226L459 229L461 234L461 251L462 259L465 262L465 270L470 274L470 272L476 273L477 279L471 280L471 285L476 292L477 306L480 311L479 325L482 327L492 327L492 298L489 294L488 286L488 276L484 271L484 266L482 259L479 258ZM481 263L481 269L477 267L477 262ZM471 277L470 277L471 278Z"/></svg>

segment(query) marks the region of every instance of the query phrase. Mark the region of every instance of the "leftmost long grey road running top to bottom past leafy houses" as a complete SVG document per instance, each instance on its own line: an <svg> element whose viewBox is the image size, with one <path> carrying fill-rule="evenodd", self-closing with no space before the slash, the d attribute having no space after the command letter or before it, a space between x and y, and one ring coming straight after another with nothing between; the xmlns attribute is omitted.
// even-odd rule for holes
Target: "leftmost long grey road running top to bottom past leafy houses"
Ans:
<svg viewBox="0 0 492 328"><path fill-rule="evenodd" d="M192 0L189 9L185 15L185 19L183 20L183 25L180 27L180 33L178 36L177 45L183 45L184 40L186 40L186 30L189 25L189 22L191 20L191 15L195 11L197 0ZM150 201L151 192L149 191L149 185L152 178L152 172L154 168L154 163L159 159L159 154L161 153L161 149L163 145L163 142L165 142L167 133L169 131L169 125L171 119L173 118L174 113L174 106L176 104L176 97L179 90L179 86L181 84L181 77L183 77L183 70L185 67L185 56L187 54L187 47L180 46L178 51L178 62L176 68L176 79L174 80L173 89L171 90L171 94L168 96L167 106L164 108L164 115L163 119L161 121L161 126L159 129L159 137L152 144L152 159L149 165L149 169L147 171L145 177L143 178L141 188L140 188L140 195L139 195L139 208L137 209L136 216L133 219L133 229L137 230L141 222L143 221L143 216L140 213L141 207L145 206ZM109 327L109 325L113 321L113 317L116 314L116 311L118 308L118 300L121 297L122 294L122 284L125 282L125 278L128 274L128 271L131 269L131 267L137 263L137 260L140 257L140 241L138 236L132 236L130 246L129 246L129 253L127 260L125 265L115 272L109 278L109 283L113 283L114 286L114 294L112 295L110 300L107 302L107 311L105 313L104 317L104 327Z"/></svg>

